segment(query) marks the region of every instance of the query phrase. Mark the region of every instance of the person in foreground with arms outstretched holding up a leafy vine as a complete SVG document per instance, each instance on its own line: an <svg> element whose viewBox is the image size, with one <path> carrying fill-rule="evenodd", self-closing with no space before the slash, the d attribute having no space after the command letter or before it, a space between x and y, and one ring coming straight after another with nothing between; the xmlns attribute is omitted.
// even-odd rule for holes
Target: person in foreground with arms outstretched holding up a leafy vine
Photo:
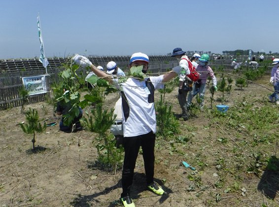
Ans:
<svg viewBox="0 0 279 207"><path fill-rule="evenodd" d="M110 82L113 81L109 74L97 69L87 58L75 55L72 59L80 66L90 65L97 76L105 77ZM148 64L148 56L137 52L131 56L129 68L141 69L142 73L146 73ZM122 89L123 146L125 149L121 201L125 207L135 206L130 195L130 189L140 146L143 154L147 187L158 195L164 194L164 190L154 182L156 133L154 92L156 89L163 88L163 83L173 79L177 74L181 73L181 70L184 70L186 74L190 74L188 67L181 65L174 67L173 70L163 75L147 76L144 79L130 77L125 82L119 83Z"/></svg>

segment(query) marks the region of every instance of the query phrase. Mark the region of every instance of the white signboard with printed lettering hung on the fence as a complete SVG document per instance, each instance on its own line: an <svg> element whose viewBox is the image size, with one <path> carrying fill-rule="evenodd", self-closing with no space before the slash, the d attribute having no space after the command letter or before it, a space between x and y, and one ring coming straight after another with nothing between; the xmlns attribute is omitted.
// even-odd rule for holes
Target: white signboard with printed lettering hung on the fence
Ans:
<svg viewBox="0 0 279 207"><path fill-rule="evenodd" d="M32 77L22 77L23 87L28 91L28 95L46 93L45 75Z"/></svg>

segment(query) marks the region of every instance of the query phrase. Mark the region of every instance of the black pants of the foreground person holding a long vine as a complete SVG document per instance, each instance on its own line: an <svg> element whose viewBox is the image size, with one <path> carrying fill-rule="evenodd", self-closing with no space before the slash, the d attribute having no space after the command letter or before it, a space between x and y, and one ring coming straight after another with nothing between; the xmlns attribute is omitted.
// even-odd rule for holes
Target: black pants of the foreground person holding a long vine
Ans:
<svg viewBox="0 0 279 207"><path fill-rule="evenodd" d="M153 182L155 161L155 134L153 134L153 132L151 131L145 135L139 135L136 137L124 137L123 146L125 149L125 157L122 171L123 192L121 194L121 198L127 196L127 194L130 194L140 146L142 148L146 182L147 184Z"/></svg>

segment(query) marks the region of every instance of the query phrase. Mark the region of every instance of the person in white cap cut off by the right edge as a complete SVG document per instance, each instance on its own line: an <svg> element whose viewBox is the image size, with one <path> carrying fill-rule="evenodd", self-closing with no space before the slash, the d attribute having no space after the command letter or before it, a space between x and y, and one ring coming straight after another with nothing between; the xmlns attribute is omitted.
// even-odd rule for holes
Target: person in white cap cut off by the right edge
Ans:
<svg viewBox="0 0 279 207"><path fill-rule="evenodd" d="M274 93L268 98L272 103L279 104L279 59L275 58L272 64L274 67L271 69L270 83L273 83Z"/></svg>

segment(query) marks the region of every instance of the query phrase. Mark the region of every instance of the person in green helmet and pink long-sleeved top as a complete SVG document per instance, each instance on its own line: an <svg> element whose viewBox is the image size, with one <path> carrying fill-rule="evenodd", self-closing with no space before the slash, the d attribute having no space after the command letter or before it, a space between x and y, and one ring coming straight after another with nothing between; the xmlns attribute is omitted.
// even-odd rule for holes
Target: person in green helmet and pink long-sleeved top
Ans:
<svg viewBox="0 0 279 207"><path fill-rule="evenodd" d="M187 107L189 108L192 99L194 97L194 94L199 91L199 96L201 98L201 103L200 103L200 108L202 109L204 106L204 97L206 93L206 82L208 77L210 76L212 81L213 81L213 87L214 90L217 91L217 80L214 75L213 70L209 67L209 55L208 54L203 54L201 58L199 58L200 64L197 67L197 71L201 74L200 78L197 82L193 84L193 89L191 93L188 95L187 99Z"/></svg>

